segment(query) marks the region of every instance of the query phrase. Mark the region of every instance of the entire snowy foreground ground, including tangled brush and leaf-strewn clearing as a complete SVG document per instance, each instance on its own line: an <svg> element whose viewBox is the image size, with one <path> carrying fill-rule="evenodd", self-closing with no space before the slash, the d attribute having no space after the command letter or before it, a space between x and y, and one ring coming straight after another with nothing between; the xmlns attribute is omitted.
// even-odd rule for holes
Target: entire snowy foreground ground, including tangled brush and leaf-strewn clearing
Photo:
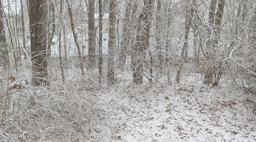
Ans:
<svg viewBox="0 0 256 142"><path fill-rule="evenodd" d="M81 78L75 69L44 88L9 79L0 141L256 142L255 96L234 85L202 85L193 74L183 84L100 87L95 71Z"/></svg>

